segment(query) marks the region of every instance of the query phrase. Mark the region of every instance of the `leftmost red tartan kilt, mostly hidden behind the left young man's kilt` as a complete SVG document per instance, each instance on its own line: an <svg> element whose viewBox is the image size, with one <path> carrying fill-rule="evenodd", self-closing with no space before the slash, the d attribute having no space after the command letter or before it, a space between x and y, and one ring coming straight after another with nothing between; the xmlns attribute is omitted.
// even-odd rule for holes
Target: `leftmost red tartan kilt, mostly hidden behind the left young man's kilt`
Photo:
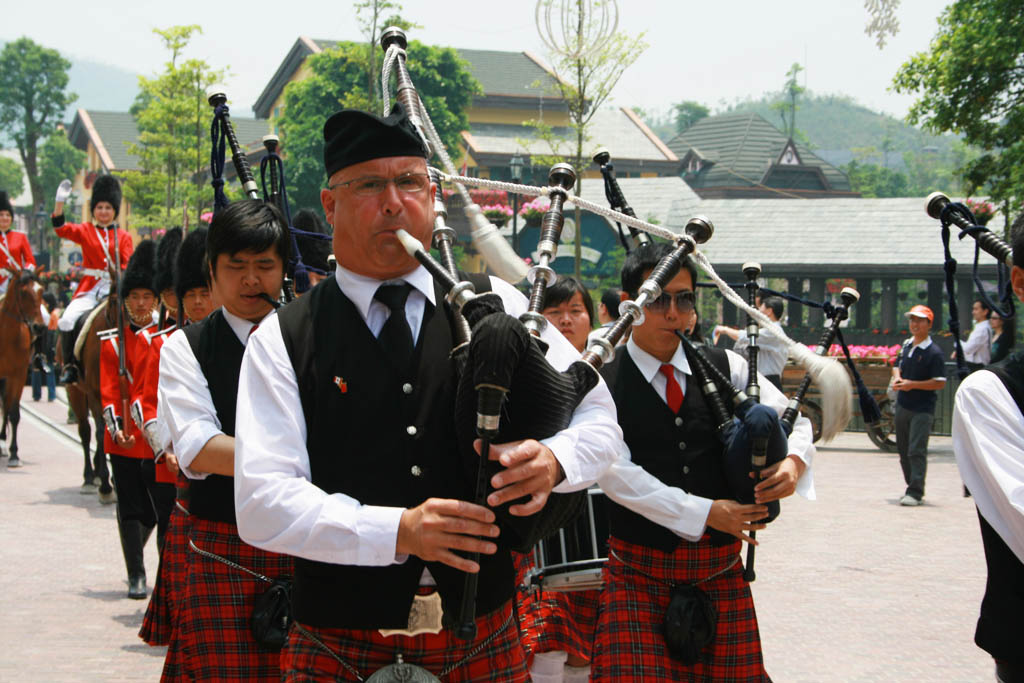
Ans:
<svg viewBox="0 0 1024 683"><path fill-rule="evenodd" d="M175 505L171 508L164 547L160 551L157 582L153 585L153 595L145 608L142 628L138 631L138 637L150 645L167 645L171 642L174 612L184 587L187 547L188 516Z"/></svg>

